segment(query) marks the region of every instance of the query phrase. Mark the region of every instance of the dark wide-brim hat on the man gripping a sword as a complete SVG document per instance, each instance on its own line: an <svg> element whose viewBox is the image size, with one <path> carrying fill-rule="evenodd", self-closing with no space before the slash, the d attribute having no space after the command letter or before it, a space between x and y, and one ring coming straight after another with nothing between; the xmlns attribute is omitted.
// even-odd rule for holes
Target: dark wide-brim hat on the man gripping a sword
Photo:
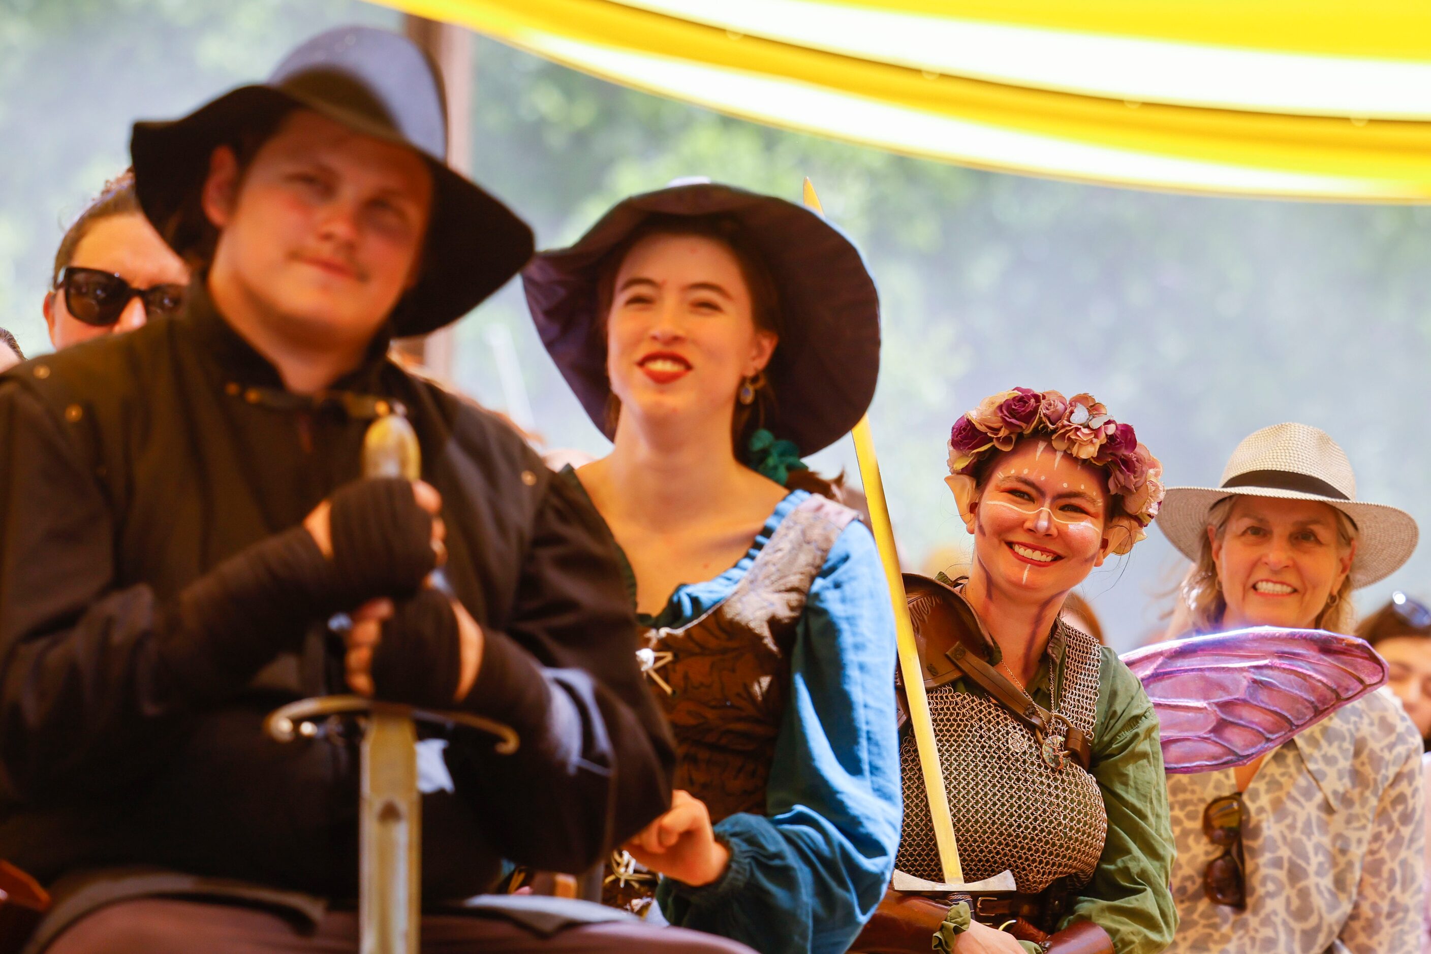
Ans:
<svg viewBox="0 0 1431 954"><path fill-rule="evenodd" d="M394 312L394 333L422 335L462 318L531 259L527 223L446 164L436 64L406 37L372 27L322 33L289 53L266 83L230 90L183 119L135 123L139 205L175 252L193 250L206 232L192 197L215 147L293 107L412 149L432 172L422 273Z"/></svg>

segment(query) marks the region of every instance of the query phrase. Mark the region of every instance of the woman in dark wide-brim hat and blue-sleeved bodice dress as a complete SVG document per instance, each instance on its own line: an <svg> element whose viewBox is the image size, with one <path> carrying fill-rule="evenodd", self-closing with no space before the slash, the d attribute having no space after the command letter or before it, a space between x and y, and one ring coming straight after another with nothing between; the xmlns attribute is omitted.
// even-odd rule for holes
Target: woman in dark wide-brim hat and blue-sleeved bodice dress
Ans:
<svg viewBox="0 0 1431 954"><path fill-rule="evenodd" d="M524 280L614 442L564 473L628 561L677 739L673 808L612 858L608 901L839 954L899 844L893 616L871 535L798 455L869 406L874 283L820 216L705 182L625 199Z"/></svg>

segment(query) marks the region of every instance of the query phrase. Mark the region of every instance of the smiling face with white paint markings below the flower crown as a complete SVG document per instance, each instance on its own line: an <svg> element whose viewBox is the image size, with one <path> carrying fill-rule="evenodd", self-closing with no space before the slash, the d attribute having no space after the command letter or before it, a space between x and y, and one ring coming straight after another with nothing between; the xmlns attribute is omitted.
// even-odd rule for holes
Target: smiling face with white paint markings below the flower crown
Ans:
<svg viewBox="0 0 1431 954"><path fill-rule="evenodd" d="M1106 476L1099 468L1036 438L1019 441L989 468L969 506L976 572L1003 592L1046 599L1102 565L1116 541L1108 532Z"/></svg>

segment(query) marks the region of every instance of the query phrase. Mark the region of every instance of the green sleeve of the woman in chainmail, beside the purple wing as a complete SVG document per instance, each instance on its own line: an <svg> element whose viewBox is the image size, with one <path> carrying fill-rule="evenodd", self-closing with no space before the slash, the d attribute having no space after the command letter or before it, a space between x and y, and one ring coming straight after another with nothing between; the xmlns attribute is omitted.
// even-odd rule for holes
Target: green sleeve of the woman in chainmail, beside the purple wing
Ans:
<svg viewBox="0 0 1431 954"><path fill-rule="evenodd" d="M1168 881L1173 838L1168 818L1158 715L1138 677L1103 646L1093 778L1103 790L1108 841L1093 880L1070 898L1070 921L1093 921L1116 954L1155 954L1172 943L1178 911Z"/></svg>

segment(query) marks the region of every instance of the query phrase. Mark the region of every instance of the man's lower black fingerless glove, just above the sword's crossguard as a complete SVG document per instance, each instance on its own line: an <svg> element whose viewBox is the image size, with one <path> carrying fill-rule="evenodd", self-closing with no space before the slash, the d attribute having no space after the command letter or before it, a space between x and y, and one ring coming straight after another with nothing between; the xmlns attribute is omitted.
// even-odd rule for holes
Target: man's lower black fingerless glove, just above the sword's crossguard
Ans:
<svg viewBox="0 0 1431 954"><path fill-rule="evenodd" d="M382 624L382 638L372 654L373 695L431 709L456 705L462 677L462 649L452 601L436 589L424 589L399 602Z"/></svg>

